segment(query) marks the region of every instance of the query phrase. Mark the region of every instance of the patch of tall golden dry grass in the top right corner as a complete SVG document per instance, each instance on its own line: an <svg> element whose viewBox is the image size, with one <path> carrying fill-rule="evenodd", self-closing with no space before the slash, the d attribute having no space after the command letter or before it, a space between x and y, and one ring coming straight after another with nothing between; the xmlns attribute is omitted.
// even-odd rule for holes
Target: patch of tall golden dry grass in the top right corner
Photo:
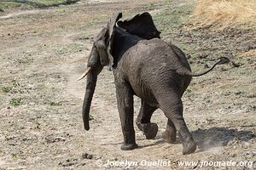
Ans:
<svg viewBox="0 0 256 170"><path fill-rule="evenodd" d="M190 16L195 27L253 26L256 28L256 0L196 0Z"/></svg>

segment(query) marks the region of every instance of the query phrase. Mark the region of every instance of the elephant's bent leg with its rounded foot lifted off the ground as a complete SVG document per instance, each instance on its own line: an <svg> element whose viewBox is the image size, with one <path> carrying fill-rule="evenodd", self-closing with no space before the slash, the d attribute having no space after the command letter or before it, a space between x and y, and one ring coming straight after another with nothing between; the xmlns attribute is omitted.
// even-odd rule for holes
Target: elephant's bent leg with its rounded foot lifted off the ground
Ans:
<svg viewBox="0 0 256 170"><path fill-rule="evenodd" d="M157 124L150 122L151 116L155 110L156 108L148 105L145 101L142 100L142 105L137 116L136 124L137 127L143 131L146 139L154 139L158 132Z"/></svg>

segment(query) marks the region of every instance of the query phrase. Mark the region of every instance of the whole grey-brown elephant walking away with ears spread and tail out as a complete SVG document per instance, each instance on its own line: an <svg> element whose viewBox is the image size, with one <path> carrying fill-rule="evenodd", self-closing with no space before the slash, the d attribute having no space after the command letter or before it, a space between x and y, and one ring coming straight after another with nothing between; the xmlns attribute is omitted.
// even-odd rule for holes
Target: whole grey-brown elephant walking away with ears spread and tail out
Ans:
<svg viewBox="0 0 256 170"><path fill-rule="evenodd" d="M183 119L182 96L192 77L206 74L216 65L230 60L221 57L207 71L195 74L180 48L160 39L160 31L152 16L145 12L131 20L119 20L122 13L113 14L99 34L96 35L87 69L79 78L87 76L82 109L84 129L89 130L91 100L96 88L97 76L104 66L113 71L119 118L124 136L121 150L137 148L134 130L133 97L141 99L141 108L136 119L137 127L147 139L154 139L158 125L150 122L156 109L167 117L164 138L183 144L183 155L195 152L196 144Z"/></svg>

